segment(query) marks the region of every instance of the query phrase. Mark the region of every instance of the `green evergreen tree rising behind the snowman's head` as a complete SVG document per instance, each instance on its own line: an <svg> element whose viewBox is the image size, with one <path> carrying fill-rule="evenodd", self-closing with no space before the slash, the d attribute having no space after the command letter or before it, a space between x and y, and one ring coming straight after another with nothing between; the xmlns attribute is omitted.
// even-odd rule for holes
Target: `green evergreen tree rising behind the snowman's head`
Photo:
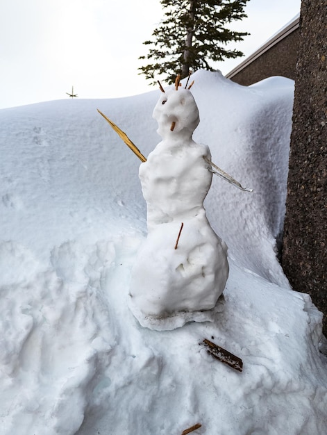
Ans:
<svg viewBox="0 0 327 435"><path fill-rule="evenodd" d="M149 54L140 59L153 63L140 67L140 74L156 83L155 74L165 74L174 81L176 74L183 79L189 70L214 68L214 62L242 56L242 51L228 50L224 45L242 41L249 33L230 31L226 24L246 17L244 7L249 0L160 0L165 8L165 19L152 35Z"/></svg>

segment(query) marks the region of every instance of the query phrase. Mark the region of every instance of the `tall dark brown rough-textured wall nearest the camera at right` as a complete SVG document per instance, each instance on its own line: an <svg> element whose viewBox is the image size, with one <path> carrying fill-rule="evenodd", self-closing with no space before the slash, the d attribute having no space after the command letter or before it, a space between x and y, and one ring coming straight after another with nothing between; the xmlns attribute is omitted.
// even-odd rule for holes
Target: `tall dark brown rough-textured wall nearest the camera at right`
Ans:
<svg viewBox="0 0 327 435"><path fill-rule="evenodd" d="M327 0L302 0L282 265L327 334Z"/></svg>

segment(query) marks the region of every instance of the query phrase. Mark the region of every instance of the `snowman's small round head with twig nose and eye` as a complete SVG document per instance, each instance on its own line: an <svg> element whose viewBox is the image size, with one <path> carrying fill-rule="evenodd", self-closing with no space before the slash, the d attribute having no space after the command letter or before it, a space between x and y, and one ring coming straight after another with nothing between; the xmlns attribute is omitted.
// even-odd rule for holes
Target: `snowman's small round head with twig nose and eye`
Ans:
<svg viewBox="0 0 327 435"><path fill-rule="evenodd" d="M165 138L192 138L193 131L200 122L199 110L190 90L171 88L160 95L153 110L158 122L158 133Z"/></svg>

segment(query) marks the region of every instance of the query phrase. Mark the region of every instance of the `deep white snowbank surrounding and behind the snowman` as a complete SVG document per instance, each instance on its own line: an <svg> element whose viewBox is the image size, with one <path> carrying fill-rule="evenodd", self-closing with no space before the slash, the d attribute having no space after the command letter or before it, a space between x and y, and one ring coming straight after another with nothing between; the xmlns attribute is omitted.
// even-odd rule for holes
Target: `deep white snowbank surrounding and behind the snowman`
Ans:
<svg viewBox="0 0 327 435"><path fill-rule="evenodd" d="M206 211L230 265L224 311L172 331L143 328L128 309L146 236L140 161L97 112L147 156L160 90L0 110L0 434L177 435L196 423L194 434L326 434L321 313L276 258L293 82L192 79L194 140L254 191L212 180Z"/></svg>

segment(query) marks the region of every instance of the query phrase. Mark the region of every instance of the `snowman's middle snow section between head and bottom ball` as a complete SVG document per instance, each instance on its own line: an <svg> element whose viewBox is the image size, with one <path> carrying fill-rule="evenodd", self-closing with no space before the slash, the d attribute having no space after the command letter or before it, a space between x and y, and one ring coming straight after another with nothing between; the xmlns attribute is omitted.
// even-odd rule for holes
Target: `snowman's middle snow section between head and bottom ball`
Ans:
<svg viewBox="0 0 327 435"><path fill-rule="evenodd" d="M139 174L149 230L195 216L203 208L212 179L203 156L210 158L206 145L163 140L142 163Z"/></svg>

